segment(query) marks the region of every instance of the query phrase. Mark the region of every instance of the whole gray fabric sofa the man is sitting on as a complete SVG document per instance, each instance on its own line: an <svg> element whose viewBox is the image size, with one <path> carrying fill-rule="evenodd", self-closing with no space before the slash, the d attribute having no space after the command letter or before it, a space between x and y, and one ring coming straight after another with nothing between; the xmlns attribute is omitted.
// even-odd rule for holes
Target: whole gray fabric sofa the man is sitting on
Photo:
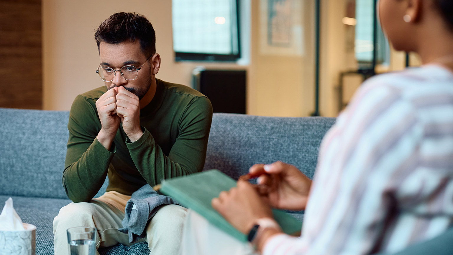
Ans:
<svg viewBox="0 0 453 255"><path fill-rule="evenodd" d="M13 197L14 208L22 220L37 226L37 255L53 254L53 218L61 207L71 202L62 185L67 121L68 112L0 108L0 205ZM281 160L299 167L312 178L321 139L334 121L334 118L320 117L215 113L204 170L217 168L237 179L255 163ZM105 191L107 181L96 196ZM302 220L302 212L290 213ZM431 246L412 247L409 254L423 249L439 251L439 247L441 252L425 254L453 254L448 248L452 246L448 240L452 239L453 231L450 231L440 237L442 245L437 240L438 243L429 243ZM101 248L99 252L148 255L149 249L142 242Z"/></svg>

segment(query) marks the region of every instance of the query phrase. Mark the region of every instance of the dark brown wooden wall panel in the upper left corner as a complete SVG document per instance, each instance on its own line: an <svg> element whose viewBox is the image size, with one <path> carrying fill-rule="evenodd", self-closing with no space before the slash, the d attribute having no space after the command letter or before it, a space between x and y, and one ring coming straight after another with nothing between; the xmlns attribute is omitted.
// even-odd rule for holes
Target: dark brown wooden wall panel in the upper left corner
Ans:
<svg viewBox="0 0 453 255"><path fill-rule="evenodd" d="M0 0L0 107L42 109L41 0Z"/></svg>

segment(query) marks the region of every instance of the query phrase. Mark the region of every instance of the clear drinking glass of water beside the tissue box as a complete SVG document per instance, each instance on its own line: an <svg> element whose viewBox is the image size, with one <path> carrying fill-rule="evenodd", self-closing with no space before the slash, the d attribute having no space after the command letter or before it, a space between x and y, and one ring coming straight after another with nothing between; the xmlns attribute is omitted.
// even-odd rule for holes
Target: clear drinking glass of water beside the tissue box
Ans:
<svg viewBox="0 0 453 255"><path fill-rule="evenodd" d="M70 255L96 254L96 228L73 227L67 230Z"/></svg>

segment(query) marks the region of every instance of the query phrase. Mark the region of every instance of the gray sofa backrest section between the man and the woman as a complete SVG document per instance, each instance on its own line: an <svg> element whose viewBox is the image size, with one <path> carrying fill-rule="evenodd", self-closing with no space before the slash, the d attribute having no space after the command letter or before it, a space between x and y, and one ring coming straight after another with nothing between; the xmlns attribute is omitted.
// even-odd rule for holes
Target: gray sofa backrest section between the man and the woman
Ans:
<svg viewBox="0 0 453 255"><path fill-rule="evenodd" d="M319 145L334 123L324 117L214 113L203 170L216 168L237 179L254 164L282 161L312 179Z"/></svg>

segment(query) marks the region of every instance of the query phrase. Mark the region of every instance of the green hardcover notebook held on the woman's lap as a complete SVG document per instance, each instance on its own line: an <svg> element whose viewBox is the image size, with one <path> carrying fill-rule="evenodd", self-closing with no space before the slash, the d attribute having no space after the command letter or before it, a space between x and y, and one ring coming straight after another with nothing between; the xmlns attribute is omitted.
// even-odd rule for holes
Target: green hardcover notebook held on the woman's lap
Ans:
<svg viewBox="0 0 453 255"><path fill-rule="evenodd" d="M160 192L176 199L181 205L196 211L226 233L246 242L246 235L236 230L211 206L220 192L236 186L236 181L217 169L162 181ZM293 235L300 233L302 222L284 211L273 209L275 220L282 230Z"/></svg>

